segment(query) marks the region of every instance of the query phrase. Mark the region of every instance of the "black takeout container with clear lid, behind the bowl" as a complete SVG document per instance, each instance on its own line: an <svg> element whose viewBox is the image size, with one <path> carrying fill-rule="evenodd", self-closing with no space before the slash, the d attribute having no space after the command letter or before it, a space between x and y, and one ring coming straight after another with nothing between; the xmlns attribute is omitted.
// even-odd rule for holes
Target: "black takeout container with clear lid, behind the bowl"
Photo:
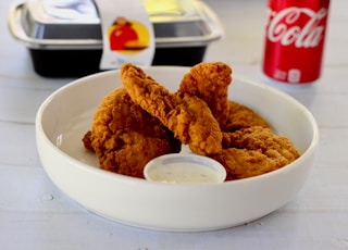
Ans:
<svg viewBox="0 0 348 250"><path fill-rule="evenodd" d="M202 1L144 2L156 37L152 65L192 66L203 60L207 46L223 37L217 16ZM92 0L66 0L63 8L71 11L84 4L84 11L77 10L73 18L54 13L54 8L52 12L52 7L47 11L47 4L49 0L27 0L14 3L9 11L10 32L28 48L35 72L48 77L99 72L102 35Z"/></svg>

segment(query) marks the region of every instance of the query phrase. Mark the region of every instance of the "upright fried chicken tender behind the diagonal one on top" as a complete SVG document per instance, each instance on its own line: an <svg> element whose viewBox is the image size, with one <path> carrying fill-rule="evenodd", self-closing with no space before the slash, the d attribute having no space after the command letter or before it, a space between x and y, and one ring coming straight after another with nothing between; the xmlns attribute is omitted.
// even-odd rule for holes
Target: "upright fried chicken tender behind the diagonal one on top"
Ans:
<svg viewBox="0 0 348 250"><path fill-rule="evenodd" d="M228 117L228 86L232 68L222 62L202 62L192 66L177 90L179 96L196 96L204 100L220 124L226 128Z"/></svg>

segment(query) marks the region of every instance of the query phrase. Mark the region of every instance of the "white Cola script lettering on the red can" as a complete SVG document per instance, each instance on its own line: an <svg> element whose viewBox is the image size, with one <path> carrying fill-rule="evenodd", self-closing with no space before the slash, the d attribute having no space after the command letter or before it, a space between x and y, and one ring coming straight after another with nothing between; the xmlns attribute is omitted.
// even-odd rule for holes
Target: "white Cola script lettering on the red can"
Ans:
<svg viewBox="0 0 348 250"><path fill-rule="evenodd" d="M297 24L301 15L308 21L301 27ZM321 22L327 15L325 8L314 12L308 8L287 8L279 12L271 11L268 39L279 41L282 46L295 45L297 48L316 47L324 36L325 26ZM273 16L273 17L272 17ZM303 16L302 16L303 17Z"/></svg>

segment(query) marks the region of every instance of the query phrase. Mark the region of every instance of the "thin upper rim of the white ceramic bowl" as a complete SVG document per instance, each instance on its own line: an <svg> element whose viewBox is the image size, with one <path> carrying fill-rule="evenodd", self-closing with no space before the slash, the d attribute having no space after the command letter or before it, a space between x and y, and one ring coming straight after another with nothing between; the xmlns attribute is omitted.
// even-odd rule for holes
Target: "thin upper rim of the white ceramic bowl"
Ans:
<svg viewBox="0 0 348 250"><path fill-rule="evenodd" d="M170 71L175 71L175 70L188 70L190 67L187 66L166 66L166 65L159 65L159 66L145 66L142 67L145 71L153 70L153 71L158 71L158 70L170 70ZM318 148L319 145L319 126L318 123L314 118L314 116L312 115L312 113L302 104L300 103L298 100L296 100L294 97L291 97L290 95L276 89L273 86L266 85L266 84L261 84L258 82L254 82L252 79L248 79L247 77L244 76L238 76L235 75L233 76L233 78L235 80L241 80L241 82L246 82L249 85L256 86L258 88L262 88L265 89L266 91L272 91L278 96L281 96L282 98L288 99L290 102L296 103L296 105L298 105L299 109L302 110L302 112L306 113L306 116L308 117L308 120L310 121L311 127L312 127L312 136L311 136L311 142L310 145L307 147L307 149L301 153L301 155L295 160L294 162L289 163L288 165L286 165L286 167L282 167L262 175L258 175L258 176L252 176L252 177L248 177L248 178L241 178L241 179L234 179L234 180L226 180L223 183L204 183L204 184L179 184L179 185L170 185L170 184L165 184L165 183L158 183L158 182L149 182L147 179L142 179L142 178L137 178L137 177L132 177L132 176L127 176L127 175L122 175L122 174L117 174L117 173L112 173L105 170L101 170L99 167L95 167L91 166L87 163L84 163L82 161L78 161L77 159L69 155L67 153L63 152L62 150L60 150L47 136L47 134L45 133L44 126L42 126L42 115L45 113L46 108L50 104L50 102L53 100L53 98L60 93L60 92L64 92L67 91L72 86L78 86L78 85L83 85L84 82L86 80L92 80L94 78L99 78L99 77L105 77L112 74L119 74L120 70L111 70L111 71L105 71L105 72L99 72L99 73L95 73L91 75L87 75L80 78L77 78L62 87L60 87L59 89L54 90L51 95L48 96L48 98L46 100L44 100L44 102L40 104L37 114L36 114L36 120L35 120L35 127L36 127L36 134L37 137L40 136L47 145L50 146L50 148L57 152L58 154L60 154L61 157L64 157L66 159L69 159L69 161L74 163L74 166L82 168L84 171L88 171L91 172L92 174L96 175L101 175L104 178L111 178L113 182L132 182L135 184L139 184L139 185L158 185L158 186L171 186L172 188L175 187L201 187L201 186L229 186L229 185L245 185L249 182L254 182L254 180L263 180L264 178L270 178L273 175L278 175L281 173L286 173L288 171L290 171L293 167L295 167L296 165L298 165L299 167L301 166L301 164L298 164L298 162L303 161L303 159L307 158L308 154L312 154L313 151L315 151L315 149ZM294 166L295 165L295 166ZM45 167L45 165L44 165ZM45 167L46 168L46 167Z"/></svg>

